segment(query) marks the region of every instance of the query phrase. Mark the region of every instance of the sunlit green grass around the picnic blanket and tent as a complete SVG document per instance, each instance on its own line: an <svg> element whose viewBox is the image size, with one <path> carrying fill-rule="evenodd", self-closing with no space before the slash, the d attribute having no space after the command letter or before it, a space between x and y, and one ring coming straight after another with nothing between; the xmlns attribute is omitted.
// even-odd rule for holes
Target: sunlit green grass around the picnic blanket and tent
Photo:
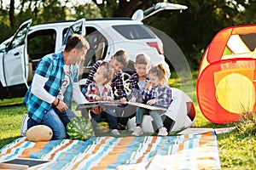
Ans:
<svg viewBox="0 0 256 170"><path fill-rule="evenodd" d="M181 85L177 79L170 79L174 88ZM193 96L196 110L196 120L193 127L236 127L230 133L218 134L218 150L222 169L256 169L256 116L247 115L240 122L230 124L215 124L207 121L201 114L195 98L195 82L192 86L183 83L183 91ZM20 137L22 116L26 114L26 107L20 106L22 99L4 99L0 101L0 148ZM74 109L74 108L73 108ZM80 116L79 112L76 112Z"/></svg>

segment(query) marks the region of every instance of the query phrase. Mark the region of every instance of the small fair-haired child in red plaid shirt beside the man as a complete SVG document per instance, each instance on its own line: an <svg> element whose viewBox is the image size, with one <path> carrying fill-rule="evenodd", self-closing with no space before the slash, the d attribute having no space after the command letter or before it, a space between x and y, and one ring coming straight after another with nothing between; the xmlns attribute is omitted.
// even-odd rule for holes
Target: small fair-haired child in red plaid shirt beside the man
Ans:
<svg viewBox="0 0 256 170"><path fill-rule="evenodd" d="M113 101L112 88L108 85L108 83L112 80L112 77L113 69L110 68L108 62L103 61L93 76L94 82L90 82L87 87L85 98L89 101ZM102 115L108 118L109 127L113 129L111 133L113 133L113 135L120 135L119 131L117 130L117 116L113 110L107 109L99 114L95 114L90 111L90 116L93 119L93 126L96 127L96 122L101 121Z"/></svg>

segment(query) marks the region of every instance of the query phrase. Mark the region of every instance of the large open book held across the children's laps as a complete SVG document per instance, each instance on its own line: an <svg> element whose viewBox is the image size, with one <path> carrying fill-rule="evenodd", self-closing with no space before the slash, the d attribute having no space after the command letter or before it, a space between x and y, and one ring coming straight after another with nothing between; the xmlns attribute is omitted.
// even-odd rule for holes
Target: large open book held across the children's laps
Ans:
<svg viewBox="0 0 256 170"><path fill-rule="evenodd" d="M142 107L144 109L148 109L151 111L167 111L165 108L161 107L155 107L152 105L144 105L142 103L137 102L117 102L117 101L93 101L93 102L87 102L84 104L77 105L76 111L80 111L84 108L92 109L94 107L102 107L102 108L111 108L114 109L115 107L125 107L126 105L131 105L135 107Z"/></svg>

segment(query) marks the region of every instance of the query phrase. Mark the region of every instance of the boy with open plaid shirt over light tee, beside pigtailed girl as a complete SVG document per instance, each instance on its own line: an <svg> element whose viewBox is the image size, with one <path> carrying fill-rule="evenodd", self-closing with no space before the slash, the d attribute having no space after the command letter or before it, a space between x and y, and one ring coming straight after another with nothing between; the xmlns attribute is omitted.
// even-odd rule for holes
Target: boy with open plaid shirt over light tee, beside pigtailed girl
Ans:
<svg viewBox="0 0 256 170"><path fill-rule="evenodd" d="M134 68L136 73L129 78L131 88L130 102L142 102L141 94L148 82L150 58L148 54L137 54ZM134 107L125 107L124 115L119 116L119 126L125 128L129 118L135 116L136 109Z"/></svg>

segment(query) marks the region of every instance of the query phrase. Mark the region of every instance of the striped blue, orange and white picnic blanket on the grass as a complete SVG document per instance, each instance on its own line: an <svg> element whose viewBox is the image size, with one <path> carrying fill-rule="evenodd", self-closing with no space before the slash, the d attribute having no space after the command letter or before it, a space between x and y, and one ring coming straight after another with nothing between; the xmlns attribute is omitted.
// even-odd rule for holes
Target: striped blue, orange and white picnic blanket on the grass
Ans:
<svg viewBox="0 0 256 170"><path fill-rule="evenodd" d="M31 142L22 137L0 150L0 162L17 157L50 160L38 169L221 169L214 131L86 141Z"/></svg>

